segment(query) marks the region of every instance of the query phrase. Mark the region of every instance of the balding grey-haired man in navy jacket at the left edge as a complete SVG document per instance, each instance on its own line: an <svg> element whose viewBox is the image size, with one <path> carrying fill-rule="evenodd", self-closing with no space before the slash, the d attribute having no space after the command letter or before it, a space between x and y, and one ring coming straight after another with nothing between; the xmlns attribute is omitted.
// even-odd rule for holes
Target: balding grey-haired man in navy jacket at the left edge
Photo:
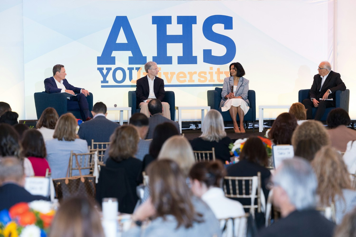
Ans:
<svg viewBox="0 0 356 237"><path fill-rule="evenodd" d="M23 188L23 165L16 157L0 158L0 185L0 210L9 209L16 203L48 200L44 196L32 195Z"/></svg>

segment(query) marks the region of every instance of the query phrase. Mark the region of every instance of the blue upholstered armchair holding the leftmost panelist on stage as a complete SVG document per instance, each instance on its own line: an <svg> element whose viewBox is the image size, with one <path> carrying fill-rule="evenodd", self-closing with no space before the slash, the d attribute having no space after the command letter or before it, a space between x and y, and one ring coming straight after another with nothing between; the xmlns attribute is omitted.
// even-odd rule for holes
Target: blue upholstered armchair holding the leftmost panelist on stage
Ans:
<svg viewBox="0 0 356 237"><path fill-rule="evenodd" d="M78 110L67 111L67 97L63 93L36 92L33 96L35 97L37 119L40 119L42 112L48 107L56 109L59 116L70 112L75 118L85 119L80 115L79 104L77 101L72 101L70 103L77 103ZM91 111L93 109L93 93L90 92L90 95L85 98L87 98L89 111ZM89 115L91 116L91 113L89 113Z"/></svg>

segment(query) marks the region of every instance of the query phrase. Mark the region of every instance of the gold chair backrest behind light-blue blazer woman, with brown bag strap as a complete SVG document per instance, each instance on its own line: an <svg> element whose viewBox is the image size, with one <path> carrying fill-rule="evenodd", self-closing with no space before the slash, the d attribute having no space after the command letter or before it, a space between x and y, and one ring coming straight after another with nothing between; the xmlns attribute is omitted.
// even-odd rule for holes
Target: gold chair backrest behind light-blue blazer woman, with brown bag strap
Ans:
<svg viewBox="0 0 356 237"><path fill-rule="evenodd" d="M95 151L88 152L88 153L73 153L73 151L70 151L68 177L72 177L72 171L79 170L79 168L89 169L90 173L92 174L95 166L94 155L95 155ZM77 162L75 161L75 157L77 157L78 159L79 167Z"/></svg>

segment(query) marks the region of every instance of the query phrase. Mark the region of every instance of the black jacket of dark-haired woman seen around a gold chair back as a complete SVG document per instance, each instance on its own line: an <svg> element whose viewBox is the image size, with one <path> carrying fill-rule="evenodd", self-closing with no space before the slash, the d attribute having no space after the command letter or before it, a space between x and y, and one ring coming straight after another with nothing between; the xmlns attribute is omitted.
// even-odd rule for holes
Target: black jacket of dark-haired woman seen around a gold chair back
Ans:
<svg viewBox="0 0 356 237"><path fill-rule="evenodd" d="M269 180L269 177L271 176L271 172L266 167L260 166L259 164L250 162L248 160L241 160L234 165L230 165L229 167L227 167L226 170L228 176L235 176L235 177L256 176L257 172L261 172L262 190L263 190L263 194L265 194L265 199L267 201L269 190L266 188L266 184ZM242 193L241 185L239 185L239 188L241 190L240 192ZM246 186L246 189L247 188L248 186ZM251 204L251 199L248 198L238 198L237 200L240 201L242 205Z"/></svg>

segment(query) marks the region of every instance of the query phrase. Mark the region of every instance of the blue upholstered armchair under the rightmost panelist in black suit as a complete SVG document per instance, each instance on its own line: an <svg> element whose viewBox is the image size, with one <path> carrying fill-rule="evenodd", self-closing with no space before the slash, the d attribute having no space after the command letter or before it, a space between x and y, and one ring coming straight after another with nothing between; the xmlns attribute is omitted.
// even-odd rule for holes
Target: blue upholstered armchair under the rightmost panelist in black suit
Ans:
<svg viewBox="0 0 356 237"><path fill-rule="evenodd" d="M303 99L309 98L309 91L310 89L304 89L298 92L298 101L300 103L302 103ZM345 109L347 113L349 113L350 90L346 89L345 91L336 91L335 93L336 107L326 108L321 121L326 121L326 117L328 117L329 112L335 108ZM313 108L313 118L315 116L316 110L317 108Z"/></svg>

